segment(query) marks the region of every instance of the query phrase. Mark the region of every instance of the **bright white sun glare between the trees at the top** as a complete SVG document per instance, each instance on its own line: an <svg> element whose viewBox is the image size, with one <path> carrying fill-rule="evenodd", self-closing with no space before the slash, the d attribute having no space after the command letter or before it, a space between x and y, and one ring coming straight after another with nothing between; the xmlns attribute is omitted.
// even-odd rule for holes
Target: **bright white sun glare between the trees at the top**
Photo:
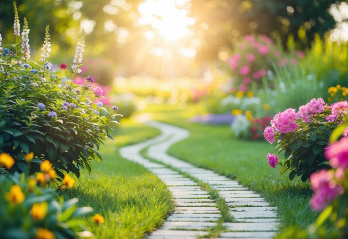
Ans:
<svg viewBox="0 0 348 239"><path fill-rule="evenodd" d="M175 41L188 36L188 26L196 21L182 9L190 0L145 0L139 4L139 23L150 24L166 40ZM148 36L145 38L149 39ZM152 38L151 38L152 39Z"/></svg>

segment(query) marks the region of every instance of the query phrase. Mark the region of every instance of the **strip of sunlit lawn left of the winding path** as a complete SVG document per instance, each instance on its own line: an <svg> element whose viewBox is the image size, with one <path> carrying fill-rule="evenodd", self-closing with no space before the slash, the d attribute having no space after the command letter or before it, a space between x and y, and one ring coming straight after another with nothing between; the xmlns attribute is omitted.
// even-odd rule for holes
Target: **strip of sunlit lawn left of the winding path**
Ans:
<svg viewBox="0 0 348 239"><path fill-rule="evenodd" d="M137 163L123 159L119 148L157 136L157 129L122 119L114 138L100 148L102 162L93 163L88 175L83 170L80 186L63 191L65 198L79 198L79 206L94 208L84 219L94 238L142 238L154 230L173 208L172 196L155 175ZM76 182L78 186L78 182ZM97 225L93 215L101 214L105 223Z"/></svg>

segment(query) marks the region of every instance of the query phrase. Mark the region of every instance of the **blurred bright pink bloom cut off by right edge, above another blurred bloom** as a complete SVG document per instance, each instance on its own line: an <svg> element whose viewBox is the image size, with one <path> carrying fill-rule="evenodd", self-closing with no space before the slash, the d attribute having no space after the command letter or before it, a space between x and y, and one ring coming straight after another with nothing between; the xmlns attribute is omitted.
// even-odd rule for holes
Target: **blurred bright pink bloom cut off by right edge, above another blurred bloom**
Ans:
<svg viewBox="0 0 348 239"><path fill-rule="evenodd" d="M348 168L348 137L343 137L334 142L324 153L327 160L330 161L332 168Z"/></svg>

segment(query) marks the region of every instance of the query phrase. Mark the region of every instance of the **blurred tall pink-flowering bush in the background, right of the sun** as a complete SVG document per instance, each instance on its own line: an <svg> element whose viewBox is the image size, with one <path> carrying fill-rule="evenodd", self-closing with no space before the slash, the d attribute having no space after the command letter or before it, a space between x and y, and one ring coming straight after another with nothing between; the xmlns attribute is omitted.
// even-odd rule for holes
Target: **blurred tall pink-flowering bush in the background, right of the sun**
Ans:
<svg viewBox="0 0 348 239"><path fill-rule="evenodd" d="M234 77L234 87L243 92L250 90L252 83L261 87L261 78L267 75L267 71L273 70L273 64L277 64L278 67L297 65L297 58L304 56L302 52L295 51L295 55L289 59L279 51L279 47L270 38L264 35L258 38L247 35L235 49L235 53L226 60L226 63L229 64L230 74Z"/></svg>

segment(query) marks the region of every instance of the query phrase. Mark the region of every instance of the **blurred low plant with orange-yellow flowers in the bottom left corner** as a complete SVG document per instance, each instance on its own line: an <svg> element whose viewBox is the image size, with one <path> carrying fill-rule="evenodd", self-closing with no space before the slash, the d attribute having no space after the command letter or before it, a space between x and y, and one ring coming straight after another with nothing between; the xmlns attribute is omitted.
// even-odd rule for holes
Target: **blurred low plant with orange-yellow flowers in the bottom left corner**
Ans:
<svg viewBox="0 0 348 239"><path fill-rule="evenodd" d="M24 174L0 174L0 188L2 238L77 238L84 230L78 218L93 210L77 207L77 198L64 201L53 188L39 187Z"/></svg>

